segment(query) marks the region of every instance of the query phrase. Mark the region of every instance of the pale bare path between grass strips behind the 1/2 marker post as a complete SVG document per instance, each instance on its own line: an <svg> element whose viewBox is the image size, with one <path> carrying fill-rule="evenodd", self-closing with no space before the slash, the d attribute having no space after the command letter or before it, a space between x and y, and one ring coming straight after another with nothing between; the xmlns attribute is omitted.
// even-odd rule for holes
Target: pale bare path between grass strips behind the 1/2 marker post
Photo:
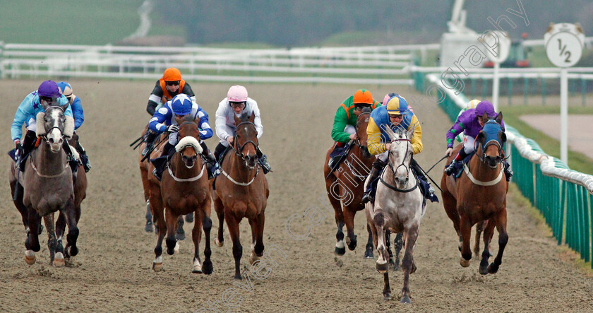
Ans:
<svg viewBox="0 0 593 313"><path fill-rule="evenodd" d="M529 114L522 115L520 119L534 129L560 141L560 114ZM593 125L593 115L568 115L568 148L589 158L593 158L591 125Z"/></svg>

